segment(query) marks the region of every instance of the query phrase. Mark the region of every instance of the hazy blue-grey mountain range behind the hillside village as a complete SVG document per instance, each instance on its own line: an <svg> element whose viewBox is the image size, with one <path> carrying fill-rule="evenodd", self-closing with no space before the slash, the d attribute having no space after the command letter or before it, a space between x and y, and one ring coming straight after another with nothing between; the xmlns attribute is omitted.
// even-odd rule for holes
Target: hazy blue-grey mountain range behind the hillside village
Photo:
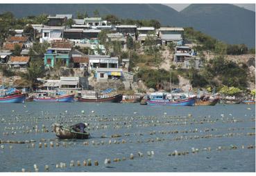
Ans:
<svg viewBox="0 0 256 176"><path fill-rule="evenodd" d="M123 19L157 19L162 26L193 27L226 43L245 43L255 47L255 12L230 4L191 4L181 12L162 4L1 4L0 13L16 17L37 14L74 14L92 16L114 14Z"/></svg>

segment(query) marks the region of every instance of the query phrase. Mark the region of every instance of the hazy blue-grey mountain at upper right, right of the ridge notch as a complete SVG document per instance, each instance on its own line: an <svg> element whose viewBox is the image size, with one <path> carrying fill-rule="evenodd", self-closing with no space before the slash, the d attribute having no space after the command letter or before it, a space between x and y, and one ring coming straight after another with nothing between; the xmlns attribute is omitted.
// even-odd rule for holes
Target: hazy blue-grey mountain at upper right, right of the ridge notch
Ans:
<svg viewBox="0 0 256 176"><path fill-rule="evenodd" d="M230 4L192 4L180 12L192 26L227 43L255 46L255 12Z"/></svg>

